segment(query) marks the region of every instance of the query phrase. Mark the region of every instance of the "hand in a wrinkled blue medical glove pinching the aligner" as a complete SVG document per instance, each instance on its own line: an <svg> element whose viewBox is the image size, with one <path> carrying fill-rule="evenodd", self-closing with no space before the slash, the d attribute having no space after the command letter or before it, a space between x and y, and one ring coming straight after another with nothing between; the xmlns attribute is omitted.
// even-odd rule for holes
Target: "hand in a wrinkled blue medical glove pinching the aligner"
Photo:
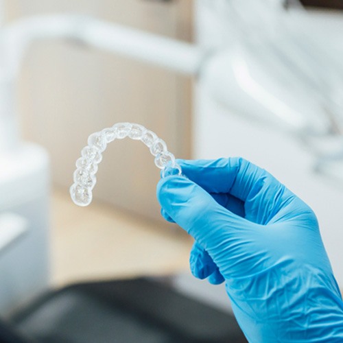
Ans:
<svg viewBox="0 0 343 343"><path fill-rule="evenodd" d="M343 342L343 303L314 212L243 158L179 160L162 213L195 239L193 275L225 281L250 342ZM329 200L328 200L329 202Z"/></svg>

